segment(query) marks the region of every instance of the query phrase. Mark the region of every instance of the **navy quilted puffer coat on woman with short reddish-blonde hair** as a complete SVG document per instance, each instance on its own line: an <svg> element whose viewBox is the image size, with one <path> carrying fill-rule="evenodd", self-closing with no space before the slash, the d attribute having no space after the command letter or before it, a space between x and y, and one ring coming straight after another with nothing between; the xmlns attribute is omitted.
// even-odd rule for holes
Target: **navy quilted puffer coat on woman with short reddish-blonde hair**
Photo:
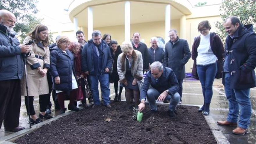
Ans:
<svg viewBox="0 0 256 144"><path fill-rule="evenodd" d="M54 90L72 90L72 70L74 70L74 56L69 51L63 52L58 46L52 48L50 54L50 73L53 81ZM61 83L56 84L54 78L60 77Z"/></svg>

